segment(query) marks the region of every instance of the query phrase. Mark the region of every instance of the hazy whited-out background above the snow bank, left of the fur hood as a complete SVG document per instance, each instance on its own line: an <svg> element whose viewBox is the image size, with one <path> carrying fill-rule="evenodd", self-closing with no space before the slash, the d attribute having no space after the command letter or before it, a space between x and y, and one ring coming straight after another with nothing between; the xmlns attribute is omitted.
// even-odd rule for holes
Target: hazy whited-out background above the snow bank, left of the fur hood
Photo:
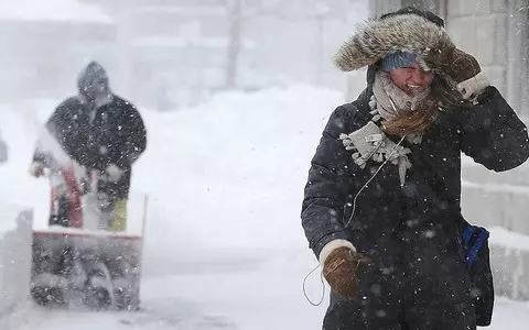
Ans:
<svg viewBox="0 0 529 330"><path fill-rule="evenodd" d="M227 88L341 88L330 57L366 15L358 0L7 0L1 97L61 96L94 57L116 88L160 110Z"/></svg>

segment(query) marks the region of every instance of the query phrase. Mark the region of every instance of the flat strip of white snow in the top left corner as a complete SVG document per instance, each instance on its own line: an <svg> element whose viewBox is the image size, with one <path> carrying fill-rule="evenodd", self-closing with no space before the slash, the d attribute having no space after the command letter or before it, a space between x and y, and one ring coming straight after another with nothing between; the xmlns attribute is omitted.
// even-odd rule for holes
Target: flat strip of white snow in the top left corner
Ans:
<svg viewBox="0 0 529 330"><path fill-rule="evenodd" d="M0 20L112 22L94 6L76 0L2 0Z"/></svg>

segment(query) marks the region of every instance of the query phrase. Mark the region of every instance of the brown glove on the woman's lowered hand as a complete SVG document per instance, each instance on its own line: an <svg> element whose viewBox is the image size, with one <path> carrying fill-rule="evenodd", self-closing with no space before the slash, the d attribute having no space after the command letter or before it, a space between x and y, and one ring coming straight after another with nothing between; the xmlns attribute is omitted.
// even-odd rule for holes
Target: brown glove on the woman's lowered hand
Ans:
<svg viewBox="0 0 529 330"><path fill-rule="evenodd" d="M353 299L358 293L357 271L369 260L347 246L333 250L325 258L323 275L331 289L342 298Z"/></svg>

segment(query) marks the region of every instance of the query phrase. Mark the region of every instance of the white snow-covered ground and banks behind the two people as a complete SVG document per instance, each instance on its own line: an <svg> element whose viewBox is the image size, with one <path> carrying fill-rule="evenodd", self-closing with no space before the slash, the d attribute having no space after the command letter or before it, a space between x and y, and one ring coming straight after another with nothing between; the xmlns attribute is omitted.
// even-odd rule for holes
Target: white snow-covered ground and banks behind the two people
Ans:
<svg viewBox="0 0 529 330"><path fill-rule="evenodd" d="M26 168L36 128L56 101L0 106L11 146L9 164L0 166L3 204L47 198L46 183L30 178ZM150 196L144 311L21 306L10 316L18 323L11 329L321 329L326 301L313 307L302 290L316 261L299 215L310 158L342 101L339 91L296 86L218 95L173 113L141 109L149 147L132 190ZM306 285L312 300L321 285L314 273ZM490 329L526 329L528 322L528 304L499 299Z"/></svg>

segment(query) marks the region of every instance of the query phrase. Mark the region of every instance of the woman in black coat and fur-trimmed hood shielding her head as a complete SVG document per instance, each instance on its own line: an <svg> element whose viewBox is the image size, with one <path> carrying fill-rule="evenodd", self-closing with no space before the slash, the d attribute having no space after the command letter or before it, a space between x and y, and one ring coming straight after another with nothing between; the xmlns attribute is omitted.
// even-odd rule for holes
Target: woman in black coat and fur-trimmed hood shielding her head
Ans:
<svg viewBox="0 0 529 330"><path fill-rule="evenodd" d="M331 116L305 186L302 226L332 288L323 328L488 323L472 276L485 274L489 314L489 268L472 266L462 243L461 152L514 168L529 157L526 125L431 12L370 21L335 62L368 74Z"/></svg>

